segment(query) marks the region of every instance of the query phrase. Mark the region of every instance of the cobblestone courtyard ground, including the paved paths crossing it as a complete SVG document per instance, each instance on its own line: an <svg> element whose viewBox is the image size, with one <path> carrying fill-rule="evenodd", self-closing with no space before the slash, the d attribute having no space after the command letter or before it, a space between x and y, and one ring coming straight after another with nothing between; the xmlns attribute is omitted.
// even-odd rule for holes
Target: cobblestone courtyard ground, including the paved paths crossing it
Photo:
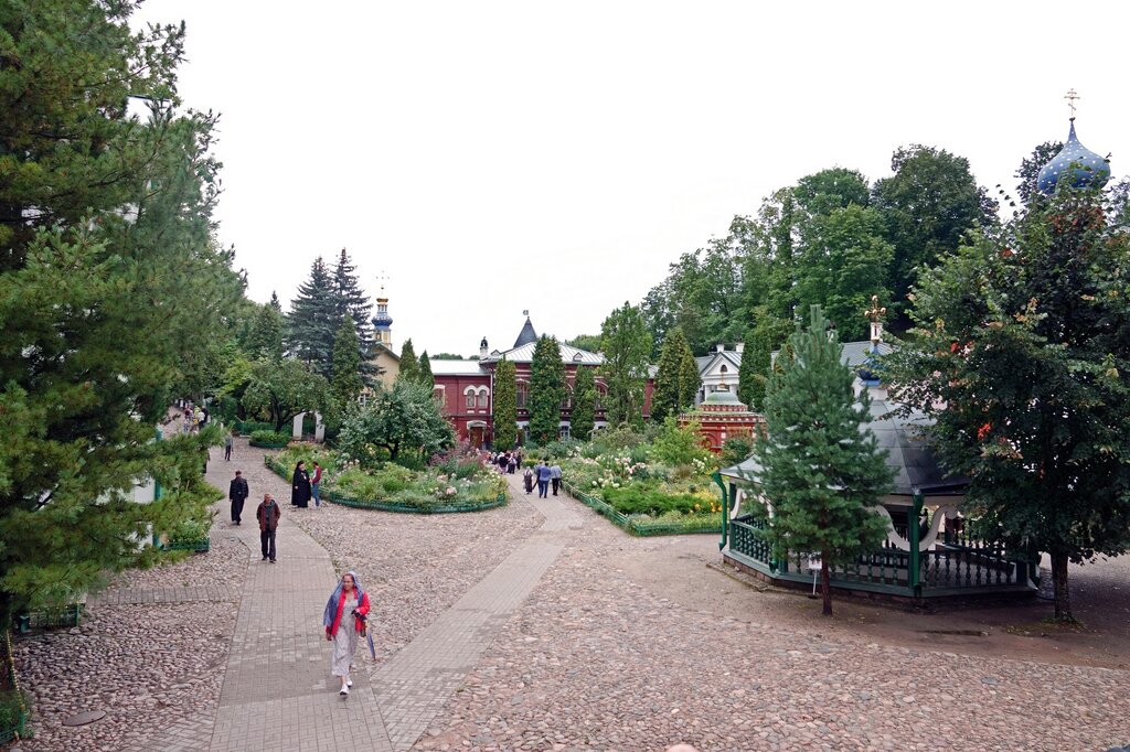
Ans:
<svg viewBox="0 0 1130 752"><path fill-rule="evenodd" d="M267 490L282 502L279 563L260 561L253 522L231 526L221 502L217 556L131 572L92 600L75 633L20 640L38 733L23 750L662 750L685 741L702 752L1058 751L1130 741L1130 672L971 658L764 612L687 609L624 566L644 550L654 556L657 543L564 495L528 497L516 476L507 507L419 517L295 509L262 452L243 443L232 463L211 463L209 479L226 489L236 467L253 499ZM669 541L660 549L677 556ZM722 578L702 574L698 560L687 566L703 588ZM370 589L379 642L348 700L329 685L320 621L342 568ZM107 717L60 725L95 708Z"/></svg>

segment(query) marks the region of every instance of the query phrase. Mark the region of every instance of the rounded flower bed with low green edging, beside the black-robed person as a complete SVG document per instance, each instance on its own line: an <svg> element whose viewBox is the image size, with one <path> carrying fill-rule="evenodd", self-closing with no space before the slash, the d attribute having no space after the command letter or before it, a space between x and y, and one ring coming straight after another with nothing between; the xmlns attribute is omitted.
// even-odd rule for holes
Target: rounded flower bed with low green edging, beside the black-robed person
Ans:
<svg viewBox="0 0 1130 752"><path fill-rule="evenodd" d="M266 456L272 472L289 479L295 451ZM305 457L302 457L305 458ZM323 499L360 509L407 514L480 511L506 504L506 481L478 460L449 461L424 471L392 463L376 470L356 465L338 469L336 457L319 460L323 465ZM297 462L297 460L295 460Z"/></svg>

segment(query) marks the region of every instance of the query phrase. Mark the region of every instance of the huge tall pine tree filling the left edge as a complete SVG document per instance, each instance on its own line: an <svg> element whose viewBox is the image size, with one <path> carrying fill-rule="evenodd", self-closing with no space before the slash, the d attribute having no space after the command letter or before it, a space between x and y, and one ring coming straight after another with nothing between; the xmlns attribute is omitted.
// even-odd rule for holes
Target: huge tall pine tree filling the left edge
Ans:
<svg viewBox="0 0 1130 752"><path fill-rule="evenodd" d="M242 280L211 235L215 121L176 97L183 26L134 30L136 5L0 9L0 631L151 560L148 531L216 499L200 452L218 432L154 426ZM134 502L153 479L163 498Z"/></svg>

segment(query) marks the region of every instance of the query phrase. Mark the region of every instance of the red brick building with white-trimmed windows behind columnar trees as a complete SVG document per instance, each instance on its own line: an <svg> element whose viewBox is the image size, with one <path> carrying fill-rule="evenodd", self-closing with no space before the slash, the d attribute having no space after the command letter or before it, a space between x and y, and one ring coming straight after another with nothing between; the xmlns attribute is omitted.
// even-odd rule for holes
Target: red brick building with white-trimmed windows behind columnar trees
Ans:
<svg viewBox="0 0 1130 752"><path fill-rule="evenodd" d="M514 364L518 393L518 425L524 437L530 425L530 366L533 361L533 348L538 335L533 324L527 317L522 331L508 350L488 350L486 338L479 343L478 360L432 360L432 374L435 377L436 395L443 400L443 410L447 420L455 429L460 439L475 446L483 446L494 437L494 376L498 361L505 358ZM579 368L597 368L603 362L600 353L581 350L568 344L558 346L562 351L562 362L565 366L566 392L568 397L562 404L560 436L570 436L570 419L573 406L573 382ZM594 374L598 402L597 428L608 425L605 417L602 397L608 394L603 379ZM654 367L644 392L644 418L651 412L651 393L654 387Z"/></svg>

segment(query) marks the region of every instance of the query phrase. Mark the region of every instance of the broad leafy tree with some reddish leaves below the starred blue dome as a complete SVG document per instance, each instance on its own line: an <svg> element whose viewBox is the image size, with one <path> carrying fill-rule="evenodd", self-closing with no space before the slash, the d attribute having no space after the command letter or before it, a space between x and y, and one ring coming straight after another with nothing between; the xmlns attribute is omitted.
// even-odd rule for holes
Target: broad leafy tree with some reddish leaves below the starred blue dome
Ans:
<svg viewBox="0 0 1130 752"><path fill-rule="evenodd" d="M1051 554L1061 620L1068 562L1130 549L1130 242L1107 216L1095 190L1061 186L947 256L890 358L899 399L970 479L977 532Z"/></svg>

